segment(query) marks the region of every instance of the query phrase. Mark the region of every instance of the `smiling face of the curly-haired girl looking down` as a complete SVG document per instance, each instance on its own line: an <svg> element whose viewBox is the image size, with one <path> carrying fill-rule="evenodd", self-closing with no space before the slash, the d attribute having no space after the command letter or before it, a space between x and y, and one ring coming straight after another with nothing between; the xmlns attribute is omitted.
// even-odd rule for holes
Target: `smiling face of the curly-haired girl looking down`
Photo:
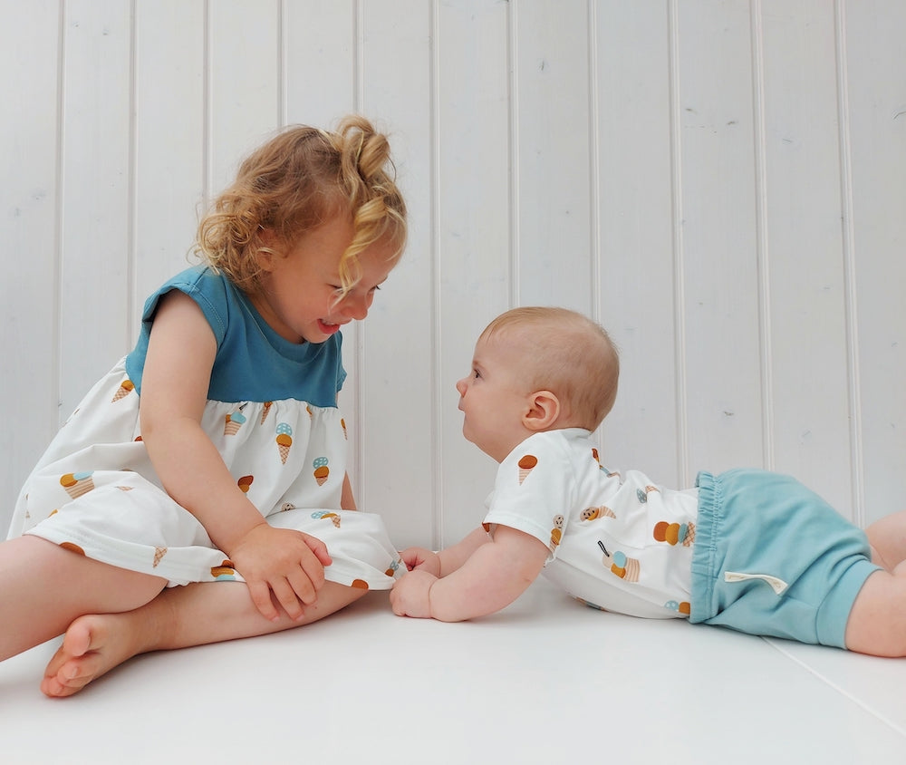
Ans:
<svg viewBox="0 0 906 765"><path fill-rule="evenodd" d="M292 343L323 343L352 319L364 319L378 286L397 258L378 242L359 255L361 278L342 300L340 257L352 241L352 221L338 217L302 237L285 252L270 258L262 289L250 295L274 331Z"/></svg>

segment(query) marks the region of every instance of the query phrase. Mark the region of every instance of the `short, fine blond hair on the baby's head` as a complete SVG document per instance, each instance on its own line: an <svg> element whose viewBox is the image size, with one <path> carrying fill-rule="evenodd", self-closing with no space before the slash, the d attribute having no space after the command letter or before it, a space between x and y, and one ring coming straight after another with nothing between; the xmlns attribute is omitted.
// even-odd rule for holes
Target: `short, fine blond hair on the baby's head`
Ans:
<svg viewBox="0 0 906 765"><path fill-rule="evenodd" d="M600 324L568 308L525 306L501 314L481 339L506 339L523 352L525 384L553 392L563 427L593 431L613 408L620 355Z"/></svg>

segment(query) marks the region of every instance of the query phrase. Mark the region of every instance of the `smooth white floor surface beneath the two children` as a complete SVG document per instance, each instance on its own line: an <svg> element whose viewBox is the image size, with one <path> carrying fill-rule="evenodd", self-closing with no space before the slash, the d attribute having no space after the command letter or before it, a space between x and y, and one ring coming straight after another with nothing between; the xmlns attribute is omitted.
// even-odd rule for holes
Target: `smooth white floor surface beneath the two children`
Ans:
<svg viewBox="0 0 906 765"><path fill-rule="evenodd" d="M0 664L0 762L903 763L906 660L602 614L539 580L472 623L371 594L283 634L37 690Z"/></svg>

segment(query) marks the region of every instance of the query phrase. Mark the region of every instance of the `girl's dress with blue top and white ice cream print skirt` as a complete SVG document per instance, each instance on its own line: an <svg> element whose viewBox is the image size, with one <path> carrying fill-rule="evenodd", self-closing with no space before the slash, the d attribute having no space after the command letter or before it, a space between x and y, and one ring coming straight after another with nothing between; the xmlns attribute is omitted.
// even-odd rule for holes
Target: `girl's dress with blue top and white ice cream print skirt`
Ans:
<svg viewBox="0 0 906 765"><path fill-rule="evenodd" d="M400 561L381 518L337 509L347 450L336 405L345 378L340 334L322 344L289 343L226 277L200 266L149 297L135 349L63 424L25 482L9 536L34 534L170 586L242 579L198 520L170 499L141 441L150 326L160 296L173 289L198 303L217 338L201 426L236 485L271 525L323 540L333 558L328 580L390 589Z"/></svg>

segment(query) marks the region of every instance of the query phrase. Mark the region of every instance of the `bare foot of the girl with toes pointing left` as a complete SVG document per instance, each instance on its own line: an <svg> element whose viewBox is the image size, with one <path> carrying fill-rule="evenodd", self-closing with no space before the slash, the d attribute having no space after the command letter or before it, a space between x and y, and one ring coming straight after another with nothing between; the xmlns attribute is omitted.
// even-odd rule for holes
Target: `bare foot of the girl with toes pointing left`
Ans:
<svg viewBox="0 0 906 765"><path fill-rule="evenodd" d="M92 680L143 650L129 614L80 616L63 636L63 645L44 670L41 690L52 697L72 696Z"/></svg>

